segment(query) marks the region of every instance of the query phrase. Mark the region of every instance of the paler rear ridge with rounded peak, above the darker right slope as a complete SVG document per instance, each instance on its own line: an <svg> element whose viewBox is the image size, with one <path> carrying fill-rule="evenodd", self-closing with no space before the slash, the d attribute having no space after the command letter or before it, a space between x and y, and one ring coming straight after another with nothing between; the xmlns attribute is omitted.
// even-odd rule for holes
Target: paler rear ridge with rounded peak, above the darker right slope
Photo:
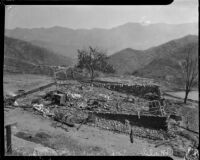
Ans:
<svg viewBox="0 0 200 160"><path fill-rule="evenodd" d="M131 48L123 49L112 54L109 57L109 62L114 66L119 74L129 73L141 69L148 65L155 58L164 58L173 55L176 50L180 50L184 46L194 43L198 46L198 36L187 35L182 38L174 39L162 45L151 47L146 50L135 50ZM178 55L180 58L181 54ZM123 66L123 67L122 67Z"/></svg>

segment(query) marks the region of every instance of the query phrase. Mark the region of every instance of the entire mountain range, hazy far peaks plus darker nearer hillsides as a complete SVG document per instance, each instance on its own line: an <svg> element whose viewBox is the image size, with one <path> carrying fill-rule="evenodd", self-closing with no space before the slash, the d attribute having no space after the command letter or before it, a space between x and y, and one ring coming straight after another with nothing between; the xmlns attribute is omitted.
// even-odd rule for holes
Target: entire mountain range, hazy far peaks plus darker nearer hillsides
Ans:
<svg viewBox="0 0 200 160"><path fill-rule="evenodd" d="M191 55L198 53L195 23L127 23L111 29L76 30L16 28L6 30L5 35L4 66L10 70L29 68L31 71L38 64L71 65L76 60L76 50L90 45L107 49L109 63L117 74L179 82L179 62L187 48L194 48Z"/></svg>

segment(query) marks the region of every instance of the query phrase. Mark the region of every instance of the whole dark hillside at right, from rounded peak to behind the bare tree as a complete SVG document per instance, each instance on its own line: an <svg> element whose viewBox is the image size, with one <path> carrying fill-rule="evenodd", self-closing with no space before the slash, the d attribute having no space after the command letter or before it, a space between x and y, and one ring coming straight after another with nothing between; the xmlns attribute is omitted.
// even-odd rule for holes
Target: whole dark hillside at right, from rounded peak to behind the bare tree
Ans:
<svg viewBox="0 0 200 160"><path fill-rule="evenodd" d="M194 48L192 54L197 56L198 36L188 35L143 51L124 49L110 56L109 61L119 74L174 80L174 76L181 78L179 61L189 46Z"/></svg>

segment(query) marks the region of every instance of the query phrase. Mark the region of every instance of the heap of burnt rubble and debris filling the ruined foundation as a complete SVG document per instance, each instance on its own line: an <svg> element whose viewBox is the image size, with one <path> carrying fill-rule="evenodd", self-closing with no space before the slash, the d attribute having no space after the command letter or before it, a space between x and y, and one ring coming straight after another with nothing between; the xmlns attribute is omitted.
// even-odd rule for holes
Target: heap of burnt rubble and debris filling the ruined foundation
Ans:
<svg viewBox="0 0 200 160"><path fill-rule="evenodd" d="M31 101L35 111L62 122L66 117L74 117L74 122L81 123L88 112L138 115L138 110L141 114L149 110L145 99L81 83L60 85L35 97Z"/></svg>

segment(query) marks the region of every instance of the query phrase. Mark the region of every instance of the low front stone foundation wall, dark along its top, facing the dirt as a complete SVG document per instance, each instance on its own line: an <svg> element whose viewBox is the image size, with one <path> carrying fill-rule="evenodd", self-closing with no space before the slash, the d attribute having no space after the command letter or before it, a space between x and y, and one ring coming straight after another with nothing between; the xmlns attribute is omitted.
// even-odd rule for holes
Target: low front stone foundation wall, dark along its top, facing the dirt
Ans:
<svg viewBox="0 0 200 160"><path fill-rule="evenodd" d="M92 126L117 133L130 134L130 126L125 122L127 119L130 121L134 136L151 140L165 139L163 134L166 133L167 128L165 117L142 116L138 119L138 117L132 115L93 113L93 118L93 123L89 123Z"/></svg>

